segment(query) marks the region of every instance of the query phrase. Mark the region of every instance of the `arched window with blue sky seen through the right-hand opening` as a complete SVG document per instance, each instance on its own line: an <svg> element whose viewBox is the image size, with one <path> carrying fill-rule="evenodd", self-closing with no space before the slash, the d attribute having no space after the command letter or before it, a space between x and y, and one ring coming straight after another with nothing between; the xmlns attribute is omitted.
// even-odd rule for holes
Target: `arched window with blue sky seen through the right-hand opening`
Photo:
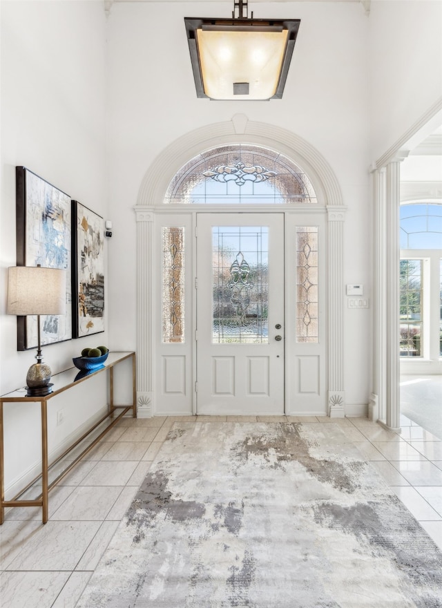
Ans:
<svg viewBox="0 0 442 608"><path fill-rule="evenodd" d="M442 205L401 205L401 357L442 357Z"/></svg>

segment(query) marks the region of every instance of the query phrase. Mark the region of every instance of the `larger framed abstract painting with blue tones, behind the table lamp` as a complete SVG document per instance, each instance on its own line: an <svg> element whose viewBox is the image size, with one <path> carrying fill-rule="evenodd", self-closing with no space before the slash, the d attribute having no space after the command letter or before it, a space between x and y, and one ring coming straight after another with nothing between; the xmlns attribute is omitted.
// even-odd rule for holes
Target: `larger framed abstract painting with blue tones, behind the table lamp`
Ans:
<svg viewBox="0 0 442 608"><path fill-rule="evenodd" d="M26 167L15 168L17 266L66 270L66 314L41 315L41 344L72 338L70 196ZM37 316L17 317L17 350L37 347Z"/></svg>

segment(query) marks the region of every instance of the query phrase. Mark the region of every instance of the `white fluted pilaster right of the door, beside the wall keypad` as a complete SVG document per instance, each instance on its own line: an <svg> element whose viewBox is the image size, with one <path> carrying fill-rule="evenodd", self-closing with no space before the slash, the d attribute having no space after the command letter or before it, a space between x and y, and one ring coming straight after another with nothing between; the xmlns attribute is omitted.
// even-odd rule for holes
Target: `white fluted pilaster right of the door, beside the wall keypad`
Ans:
<svg viewBox="0 0 442 608"><path fill-rule="evenodd" d="M345 416L344 392L344 283L343 225L345 208L327 206L328 220L328 312L330 417Z"/></svg>

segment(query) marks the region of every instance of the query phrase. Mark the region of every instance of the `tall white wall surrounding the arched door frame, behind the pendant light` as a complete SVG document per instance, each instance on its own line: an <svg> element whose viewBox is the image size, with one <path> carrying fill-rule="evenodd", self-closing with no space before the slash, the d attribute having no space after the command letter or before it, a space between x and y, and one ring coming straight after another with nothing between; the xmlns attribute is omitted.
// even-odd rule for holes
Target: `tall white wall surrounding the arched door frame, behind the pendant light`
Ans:
<svg viewBox="0 0 442 608"><path fill-rule="evenodd" d="M109 200L117 228L109 256L116 343L130 335L135 346L133 206L146 169L178 137L237 113L289 129L325 156L349 209L345 283L361 282L369 289L369 20L358 3L258 3L253 6L255 17L301 19L282 100L197 99L184 17L228 16L231 8L231 2L183 1L115 3L111 8ZM159 25L164 21L167 35ZM369 348L361 350L356 344L369 344L369 311L345 310L345 314L347 401L367 403Z"/></svg>

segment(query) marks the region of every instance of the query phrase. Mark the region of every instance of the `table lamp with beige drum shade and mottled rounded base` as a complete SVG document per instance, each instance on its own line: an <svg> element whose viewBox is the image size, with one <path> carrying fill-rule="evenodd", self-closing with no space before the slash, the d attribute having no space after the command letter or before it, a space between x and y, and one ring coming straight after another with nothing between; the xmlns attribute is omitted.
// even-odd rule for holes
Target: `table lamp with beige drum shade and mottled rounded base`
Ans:
<svg viewBox="0 0 442 608"><path fill-rule="evenodd" d="M8 268L8 314L37 315L37 363L26 376L26 397L44 397L52 392L50 367L43 363L40 344L40 315L66 313L66 271L38 266Z"/></svg>

